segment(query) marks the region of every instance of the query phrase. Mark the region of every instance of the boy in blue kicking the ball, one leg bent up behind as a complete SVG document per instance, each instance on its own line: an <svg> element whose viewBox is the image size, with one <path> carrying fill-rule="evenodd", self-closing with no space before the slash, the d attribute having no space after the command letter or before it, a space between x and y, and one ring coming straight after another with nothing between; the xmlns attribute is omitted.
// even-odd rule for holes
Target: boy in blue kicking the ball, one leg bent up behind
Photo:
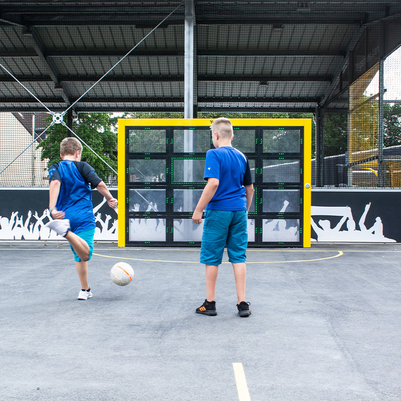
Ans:
<svg viewBox="0 0 401 401"><path fill-rule="evenodd" d="M81 154L82 144L78 139L65 138L61 141L62 161L49 167L49 211L55 220L45 226L70 243L81 282L78 299L87 300L92 298L88 285L88 260L92 257L96 227L91 189L96 188L112 209L117 207L117 199L95 170L81 161Z"/></svg>

